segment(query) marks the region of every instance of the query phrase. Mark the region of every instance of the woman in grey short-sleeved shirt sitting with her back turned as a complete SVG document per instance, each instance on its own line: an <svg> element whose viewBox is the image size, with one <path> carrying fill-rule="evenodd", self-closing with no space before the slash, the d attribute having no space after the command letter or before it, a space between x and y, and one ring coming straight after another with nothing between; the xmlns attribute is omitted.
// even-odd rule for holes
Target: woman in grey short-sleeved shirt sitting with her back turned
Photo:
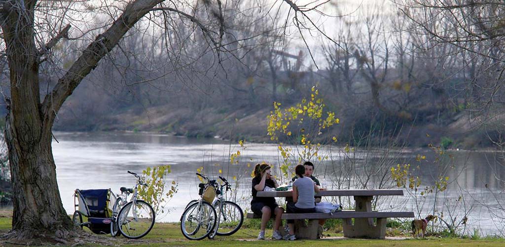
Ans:
<svg viewBox="0 0 505 247"><path fill-rule="evenodd" d="M304 165L298 164L294 168L294 172L298 178L293 182L293 201L286 203L286 213L307 214L316 212L314 194L319 192L319 186L310 177L304 176ZM284 239L295 240L294 220L287 220L287 225L289 230Z"/></svg>

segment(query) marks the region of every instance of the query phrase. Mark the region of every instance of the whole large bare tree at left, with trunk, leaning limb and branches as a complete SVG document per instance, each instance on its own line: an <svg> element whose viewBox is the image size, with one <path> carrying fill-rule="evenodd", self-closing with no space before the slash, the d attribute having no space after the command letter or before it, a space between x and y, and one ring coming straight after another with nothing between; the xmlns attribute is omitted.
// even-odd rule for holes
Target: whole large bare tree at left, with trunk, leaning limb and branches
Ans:
<svg viewBox="0 0 505 247"><path fill-rule="evenodd" d="M151 51L166 52L171 68L154 76L191 80L212 74L209 70L212 66L201 73L182 69L200 61L199 57L189 55L186 50L189 45L199 48L201 55L212 54L201 59L219 67L227 59L222 54L242 49L243 40L260 35L254 33L242 40L233 39L233 32L227 31L230 18L250 15L259 9L265 11L256 19L269 18L270 13L281 9L306 17L306 13L318 11L325 2L316 1L309 6L297 6L289 0L269 5L256 2L252 9L241 9L240 4L234 3L221 0L0 1L2 54L8 62L11 95L6 99L9 114L5 131L14 190L13 230L9 237L60 239L74 235L74 226L63 208L56 181L52 127L64 102L101 60L113 59L117 53L131 58L124 49L123 37L149 36L146 40L153 44ZM93 19L95 15L98 17ZM284 23L284 28L288 25ZM72 53L75 58L67 63L53 52L65 39L80 39L83 43L79 44L85 44L67 46L65 55ZM40 88L44 63L58 70L57 81L45 96L41 95ZM155 67L150 70L156 70ZM175 73L178 69L183 72ZM142 78L137 83L150 80Z"/></svg>

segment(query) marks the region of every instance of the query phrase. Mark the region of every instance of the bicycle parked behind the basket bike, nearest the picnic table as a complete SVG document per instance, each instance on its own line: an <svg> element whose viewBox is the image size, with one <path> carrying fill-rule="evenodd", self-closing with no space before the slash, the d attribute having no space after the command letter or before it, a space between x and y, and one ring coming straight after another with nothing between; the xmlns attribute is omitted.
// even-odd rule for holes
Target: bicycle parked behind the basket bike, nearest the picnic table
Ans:
<svg viewBox="0 0 505 247"><path fill-rule="evenodd" d="M207 177L197 174L200 177ZM217 198L213 201L212 206L216 210L217 214L217 226L213 229L212 233L208 235L209 238L214 238L214 236L229 236L237 232L242 226L244 220L244 214L239 205L233 201L226 200L226 192L231 189L230 183L223 177L219 176L219 179L223 181L220 189L216 190ZM200 186L201 189L201 186ZM224 190L223 190L224 189ZM192 200L186 206L189 207L192 203L196 203L198 200Z"/></svg>

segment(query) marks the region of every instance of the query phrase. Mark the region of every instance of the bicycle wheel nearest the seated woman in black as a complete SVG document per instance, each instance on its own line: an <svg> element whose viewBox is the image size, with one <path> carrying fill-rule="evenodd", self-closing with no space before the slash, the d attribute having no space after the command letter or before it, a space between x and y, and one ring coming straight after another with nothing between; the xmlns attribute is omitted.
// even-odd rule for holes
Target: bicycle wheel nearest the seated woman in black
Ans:
<svg viewBox="0 0 505 247"><path fill-rule="evenodd" d="M219 211L221 217L216 235L229 236L237 232L244 221L244 213L237 203L224 201Z"/></svg>

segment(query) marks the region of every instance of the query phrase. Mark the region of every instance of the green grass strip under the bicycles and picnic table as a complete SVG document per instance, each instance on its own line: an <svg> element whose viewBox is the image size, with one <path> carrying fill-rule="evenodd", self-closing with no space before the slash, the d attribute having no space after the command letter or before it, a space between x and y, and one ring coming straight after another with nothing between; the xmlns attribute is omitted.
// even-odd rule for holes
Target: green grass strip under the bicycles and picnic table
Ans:
<svg viewBox="0 0 505 247"><path fill-rule="evenodd" d="M11 215L9 212L0 212L0 234L6 233L11 228ZM124 237L112 238L109 235L100 235L110 240L112 245L126 246L503 246L505 239L461 239L428 237L425 239L412 239L406 237L388 237L386 240L375 239L345 239L341 234L333 231L321 240L256 240L258 229L255 222L245 222L237 233L232 236L216 236L214 240L190 241L185 239L176 223L157 223L153 230L139 240L127 240ZM85 228L86 229L86 228ZM267 231L267 237L271 236ZM96 246L96 243L82 243L78 246ZM109 244L108 244L109 245ZM0 246L19 246L6 241L0 241Z"/></svg>

